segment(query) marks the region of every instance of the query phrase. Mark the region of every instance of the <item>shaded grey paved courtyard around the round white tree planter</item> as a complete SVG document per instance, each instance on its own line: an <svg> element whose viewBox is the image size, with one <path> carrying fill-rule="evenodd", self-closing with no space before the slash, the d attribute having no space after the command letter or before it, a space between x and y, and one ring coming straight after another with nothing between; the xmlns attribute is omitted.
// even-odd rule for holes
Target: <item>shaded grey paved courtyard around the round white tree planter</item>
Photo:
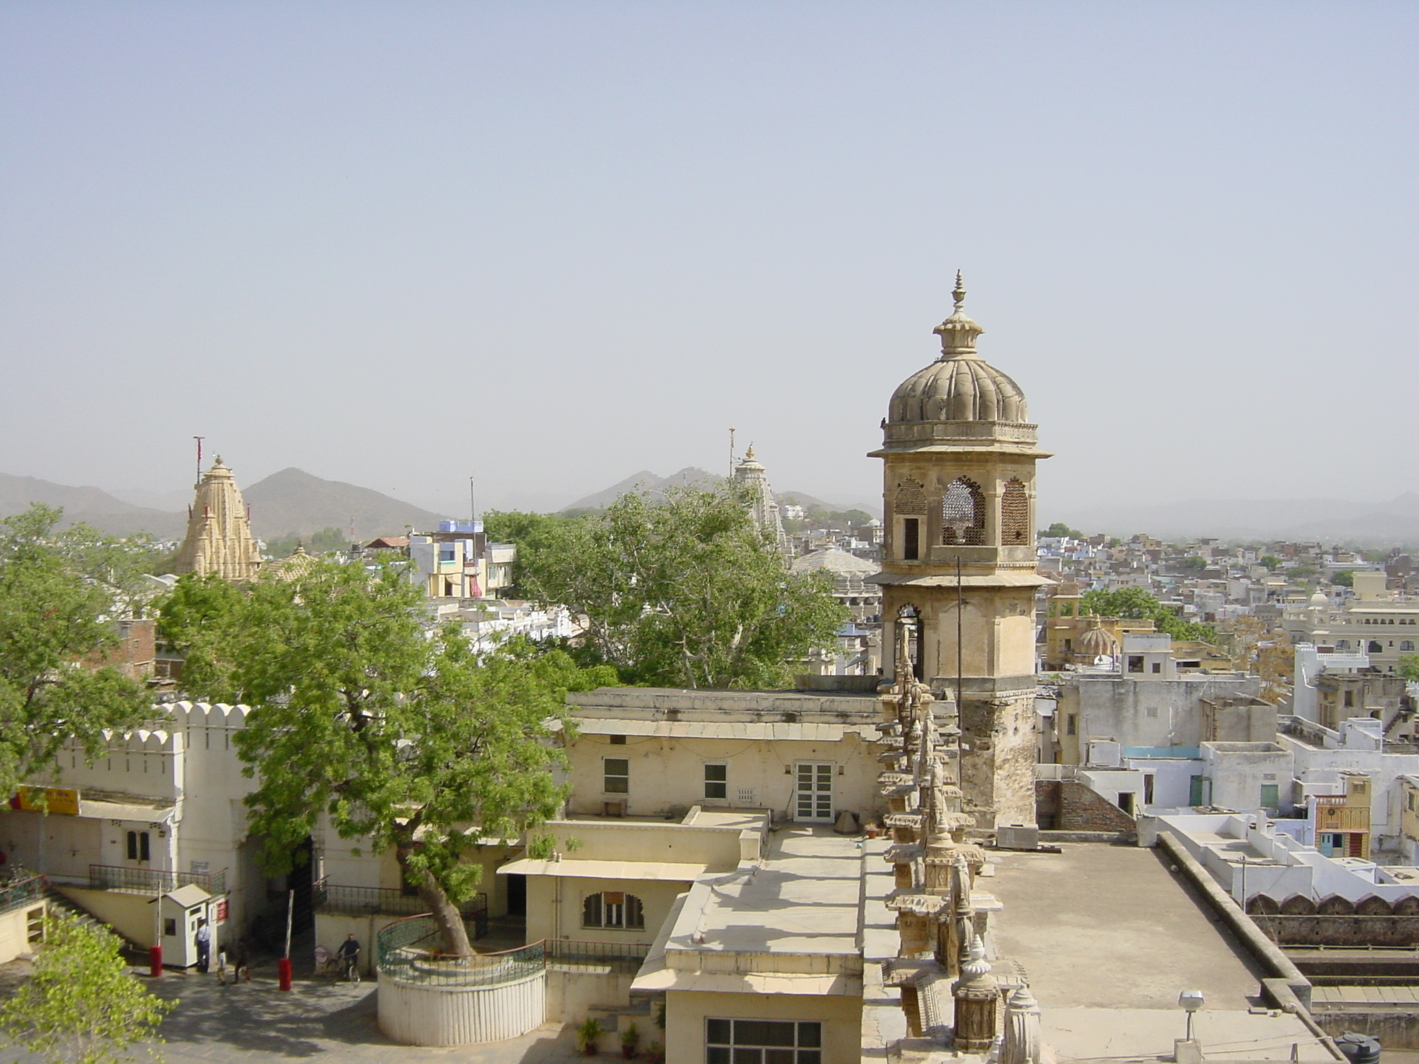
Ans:
<svg viewBox="0 0 1419 1064"><path fill-rule="evenodd" d="M10 980L20 966L6 965ZM136 970L136 969L135 969ZM6 979L0 975L0 985ZM521 1038L460 1048L397 1046L379 1033L375 1020L375 983L336 983L297 979L288 993L277 990L275 966L258 966L250 983L221 987L216 975L169 972L152 982L156 993L179 1004L162 1027L167 1064L265 1064L309 1060L319 1064L563 1064L586 1060L576 1053L575 1037L562 1024L543 1027ZM604 1036L602 1055L620 1047ZM31 1054L6 1053L7 1061L38 1064Z"/></svg>

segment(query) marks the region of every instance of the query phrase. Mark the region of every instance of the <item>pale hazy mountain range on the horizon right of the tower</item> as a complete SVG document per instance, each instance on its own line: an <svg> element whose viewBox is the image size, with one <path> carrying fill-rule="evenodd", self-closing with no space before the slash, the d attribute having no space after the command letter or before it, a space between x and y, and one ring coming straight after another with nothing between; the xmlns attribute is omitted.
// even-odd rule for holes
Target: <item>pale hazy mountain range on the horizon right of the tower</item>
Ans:
<svg viewBox="0 0 1419 1064"><path fill-rule="evenodd" d="M1042 526L1063 521L1083 532L1159 539L1294 539L1352 546L1419 546L1419 494L1388 502L1354 499L1189 499L1149 506L1049 508Z"/></svg>

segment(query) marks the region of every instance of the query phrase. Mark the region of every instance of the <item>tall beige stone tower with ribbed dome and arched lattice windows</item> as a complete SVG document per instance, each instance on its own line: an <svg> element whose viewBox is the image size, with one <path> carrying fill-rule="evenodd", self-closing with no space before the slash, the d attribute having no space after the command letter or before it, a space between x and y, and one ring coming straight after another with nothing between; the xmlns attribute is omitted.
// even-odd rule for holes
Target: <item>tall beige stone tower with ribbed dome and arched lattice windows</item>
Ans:
<svg viewBox="0 0 1419 1064"><path fill-rule="evenodd" d="M1025 393L976 353L962 305L941 358L893 393L884 440L883 645L907 628L917 677L959 691L961 787L978 826L1034 823L1036 447ZM958 579L959 575L959 579ZM958 638L959 633L959 638Z"/></svg>

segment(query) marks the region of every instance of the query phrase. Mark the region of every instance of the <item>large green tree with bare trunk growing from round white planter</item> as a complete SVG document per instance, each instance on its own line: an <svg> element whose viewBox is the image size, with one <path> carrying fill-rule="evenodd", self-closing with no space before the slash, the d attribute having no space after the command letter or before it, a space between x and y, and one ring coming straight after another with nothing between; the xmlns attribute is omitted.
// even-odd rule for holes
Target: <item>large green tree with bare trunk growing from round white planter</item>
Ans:
<svg viewBox="0 0 1419 1064"><path fill-rule="evenodd" d="M260 782L247 804L267 870L288 871L324 814L342 838L394 850L444 951L461 956L457 907L481 874L464 851L556 814L563 755L548 721L568 688L614 674L525 645L478 657L457 626L427 633L423 602L399 563L325 560L260 580L193 637L186 680L253 706L237 749Z"/></svg>

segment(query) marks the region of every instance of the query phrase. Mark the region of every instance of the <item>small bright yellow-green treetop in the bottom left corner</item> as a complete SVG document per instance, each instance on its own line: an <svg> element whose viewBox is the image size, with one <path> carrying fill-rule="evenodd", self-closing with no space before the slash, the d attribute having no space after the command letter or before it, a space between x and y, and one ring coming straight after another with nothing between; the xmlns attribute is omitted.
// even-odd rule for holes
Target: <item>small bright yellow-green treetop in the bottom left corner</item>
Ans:
<svg viewBox="0 0 1419 1064"><path fill-rule="evenodd" d="M128 1060L176 1004L128 972L123 943L108 928L68 912L44 919L34 973L0 1004L0 1031L51 1064Z"/></svg>

